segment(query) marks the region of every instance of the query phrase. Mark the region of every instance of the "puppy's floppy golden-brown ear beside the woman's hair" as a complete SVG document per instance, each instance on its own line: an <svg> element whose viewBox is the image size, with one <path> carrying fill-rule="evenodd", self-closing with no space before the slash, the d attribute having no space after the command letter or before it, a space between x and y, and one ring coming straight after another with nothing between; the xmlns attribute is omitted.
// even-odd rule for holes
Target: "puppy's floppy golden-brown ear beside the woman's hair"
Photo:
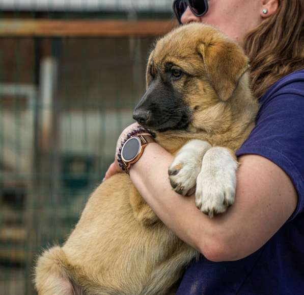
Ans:
<svg viewBox="0 0 304 295"><path fill-rule="evenodd" d="M226 40L201 43L198 50L213 88L220 100L227 101L249 67L248 58L237 44Z"/></svg>

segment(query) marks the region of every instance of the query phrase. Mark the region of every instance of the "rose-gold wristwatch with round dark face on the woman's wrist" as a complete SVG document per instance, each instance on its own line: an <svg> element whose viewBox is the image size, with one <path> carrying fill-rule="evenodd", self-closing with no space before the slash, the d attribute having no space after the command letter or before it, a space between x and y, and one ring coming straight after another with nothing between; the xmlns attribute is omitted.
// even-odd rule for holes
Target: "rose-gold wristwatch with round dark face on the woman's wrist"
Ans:
<svg viewBox="0 0 304 295"><path fill-rule="evenodd" d="M151 135L136 135L129 138L121 149L122 165L127 174L131 164L136 163L142 156L148 143L155 142Z"/></svg>

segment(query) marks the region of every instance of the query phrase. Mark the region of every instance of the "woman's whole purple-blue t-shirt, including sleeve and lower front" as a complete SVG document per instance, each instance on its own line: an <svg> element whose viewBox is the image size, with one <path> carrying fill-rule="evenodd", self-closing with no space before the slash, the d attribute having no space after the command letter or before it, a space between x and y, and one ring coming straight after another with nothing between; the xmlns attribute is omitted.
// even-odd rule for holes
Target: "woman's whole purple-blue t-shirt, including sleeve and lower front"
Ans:
<svg viewBox="0 0 304 295"><path fill-rule="evenodd" d="M304 70L284 77L261 97L256 127L236 153L244 154L263 156L285 171L297 190L296 210L250 256L193 261L176 295L304 294Z"/></svg>

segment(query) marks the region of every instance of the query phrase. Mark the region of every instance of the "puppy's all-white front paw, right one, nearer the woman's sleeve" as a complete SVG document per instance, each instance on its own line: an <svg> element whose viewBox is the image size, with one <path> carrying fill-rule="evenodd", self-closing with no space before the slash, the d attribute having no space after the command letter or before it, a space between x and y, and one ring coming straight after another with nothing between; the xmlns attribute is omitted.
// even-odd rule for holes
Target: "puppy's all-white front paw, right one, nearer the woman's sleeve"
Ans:
<svg viewBox="0 0 304 295"><path fill-rule="evenodd" d="M196 205L210 218L234 203L237 166L235 157L224 147L212 147L204 156L197 178Z"/></svg>

